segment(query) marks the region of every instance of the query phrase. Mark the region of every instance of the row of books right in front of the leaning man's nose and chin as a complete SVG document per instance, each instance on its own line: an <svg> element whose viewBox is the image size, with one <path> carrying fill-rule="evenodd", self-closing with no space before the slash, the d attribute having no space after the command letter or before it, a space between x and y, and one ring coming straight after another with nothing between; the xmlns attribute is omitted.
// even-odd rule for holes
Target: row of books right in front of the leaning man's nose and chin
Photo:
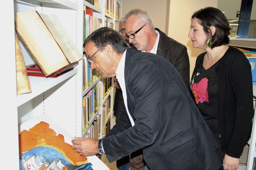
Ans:
<svg viewBox="0 0 256 170"><path fill-rule="evenodd" d="M88 58L83 53L83 90L88 88L91 83L93 83L98 77L100 76L100 73L96 69L92 69L90 67L90 62L88 61Z"/></svg>

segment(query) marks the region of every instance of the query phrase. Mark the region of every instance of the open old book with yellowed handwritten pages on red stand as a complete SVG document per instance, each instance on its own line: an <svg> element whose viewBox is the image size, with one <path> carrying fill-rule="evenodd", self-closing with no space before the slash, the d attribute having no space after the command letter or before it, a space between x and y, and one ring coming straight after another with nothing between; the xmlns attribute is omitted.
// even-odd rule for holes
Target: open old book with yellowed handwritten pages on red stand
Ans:
<svg viewBox="0 0 256 170"><path fill-rule="evenodd" d="M15 29L46 76L82 59L56 14L15 13Z"/></svg>

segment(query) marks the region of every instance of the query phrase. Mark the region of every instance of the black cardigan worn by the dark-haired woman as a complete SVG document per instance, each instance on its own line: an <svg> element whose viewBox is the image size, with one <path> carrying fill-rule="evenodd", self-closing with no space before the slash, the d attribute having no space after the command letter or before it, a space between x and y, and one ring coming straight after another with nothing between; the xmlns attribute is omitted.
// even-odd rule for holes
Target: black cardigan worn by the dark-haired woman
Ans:
<svg viewBox="0 0 256 170"><path fill-rule="evenodd" d="M205 53L197 57L192 75L203 62ZM252 131L254 110L251 66L240 50L229 46L215 69L219 77L221 149L224 149L227 155L239 158Z"/></svg>

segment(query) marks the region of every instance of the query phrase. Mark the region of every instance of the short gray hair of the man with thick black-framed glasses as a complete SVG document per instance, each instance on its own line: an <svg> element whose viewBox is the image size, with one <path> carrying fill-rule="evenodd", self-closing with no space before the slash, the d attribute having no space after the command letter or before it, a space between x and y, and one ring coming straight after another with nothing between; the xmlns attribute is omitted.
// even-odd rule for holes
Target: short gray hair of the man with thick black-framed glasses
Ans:
<svg viewBox="0 0 256 170"><path fill-rule="evenodd" d="M129 11L125 16L124 16L124 21L126 21L130 16L135 15L138 17L138 19L143 23L146 24L147 22L150 23L151 29L154 30L154 25L152 22L152 19L150 17L150 15L142 10L142 9L133 9L131 11Z"/></svg>

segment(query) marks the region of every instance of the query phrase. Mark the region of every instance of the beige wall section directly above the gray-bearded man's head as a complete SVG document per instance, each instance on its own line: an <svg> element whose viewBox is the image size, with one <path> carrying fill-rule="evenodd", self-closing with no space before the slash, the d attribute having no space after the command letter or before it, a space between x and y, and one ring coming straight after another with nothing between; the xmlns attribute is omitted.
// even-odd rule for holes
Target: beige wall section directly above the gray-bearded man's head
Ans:
<svg viewBox="0 0 256 170"><path fill-rule="evenodd" d="M157 3L156 3L157 2ZM122 15L124 16L132 9L141 8L149 13L154 27L166 32L167 0L123 0Z"/></svg>

